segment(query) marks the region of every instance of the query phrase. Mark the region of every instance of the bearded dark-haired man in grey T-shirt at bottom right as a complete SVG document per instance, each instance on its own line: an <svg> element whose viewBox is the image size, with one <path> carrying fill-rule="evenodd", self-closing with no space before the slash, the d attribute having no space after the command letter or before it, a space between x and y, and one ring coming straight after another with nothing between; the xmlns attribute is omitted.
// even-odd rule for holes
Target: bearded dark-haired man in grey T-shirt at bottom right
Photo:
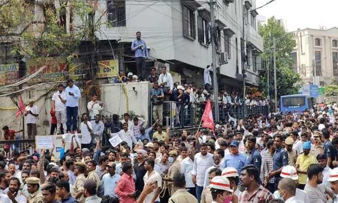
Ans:
<svg viewBox="0 0 338 203"><path fill-rule="evenodd" d="M319 164L311 164L307 169L308 182L304 191L308 194L311 203L329 203L328 197L333 197L332 190L321 184L323 179L323 168Z"/></svg>

